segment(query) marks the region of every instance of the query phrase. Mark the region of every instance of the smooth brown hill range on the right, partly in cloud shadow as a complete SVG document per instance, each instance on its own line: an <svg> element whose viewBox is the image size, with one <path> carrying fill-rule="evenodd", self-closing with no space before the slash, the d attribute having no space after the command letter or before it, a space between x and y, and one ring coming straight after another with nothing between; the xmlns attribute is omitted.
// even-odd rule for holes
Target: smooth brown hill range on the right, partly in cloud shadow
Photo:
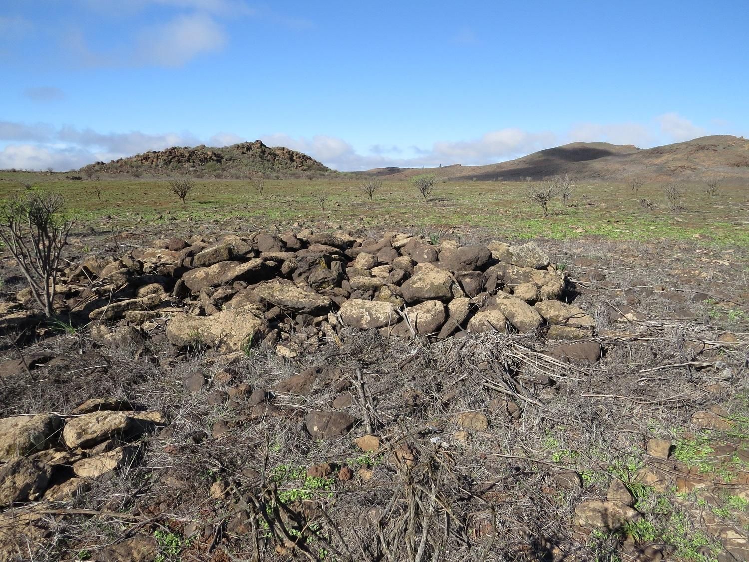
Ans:
<svg viewBox="0 0 749 562"><path fill-rule="evenodd" d="M749 141L730 135L703 136L647 149L607 142L573 142L486 166L377 168L363 173L404 179L425 172L455 180L538 180L569 174L590 180L637 175L645 181L701 180L709 176L749 181Z"/></svg>

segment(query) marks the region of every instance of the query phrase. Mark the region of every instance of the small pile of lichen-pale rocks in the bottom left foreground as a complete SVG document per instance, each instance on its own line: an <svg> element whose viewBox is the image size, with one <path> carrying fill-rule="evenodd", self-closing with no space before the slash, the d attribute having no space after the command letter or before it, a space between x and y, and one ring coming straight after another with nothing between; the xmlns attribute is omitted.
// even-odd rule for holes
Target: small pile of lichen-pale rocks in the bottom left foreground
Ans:
<svg viewBox="0 0 749 562"><path fill-rule="evenodd" d="M142 436L166 425L158 411L123 399L90 399L70 415L0 419L0 507L66 501L93 480L138 462Z"/></svg>

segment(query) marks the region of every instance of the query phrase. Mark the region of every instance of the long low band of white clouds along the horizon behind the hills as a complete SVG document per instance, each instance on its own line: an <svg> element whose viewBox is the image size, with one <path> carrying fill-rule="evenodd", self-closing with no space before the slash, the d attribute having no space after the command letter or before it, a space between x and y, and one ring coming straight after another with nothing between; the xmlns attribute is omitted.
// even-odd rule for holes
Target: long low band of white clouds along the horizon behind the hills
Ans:
<svg viewBox="0 0 749 562"><path fill-rule="evenodd" d="M192 3L200 2L194 0ZM40 96L54 97L53 94L54 92L41 91ZM70 125L55 127L46 123L0 121L0 168L78 169L96 161L115 160L172 146L226 146L255 138L269 146L285 146L309 154L326 166L342 171L388 166L446 166L454 163L482 165L512 160L568 142L612 142L647 148L712 133L714 132L670 112L658 115L647 124L582 123L575 124L563 133L503 128L489 131L476 139L438 140L428 148L372 145L361 150L345 139L327 135L304 137L270 133L243 136L235 132L219 131L207 138L200 138L189 131L160 134L140 131L102 133Z"/></svg>

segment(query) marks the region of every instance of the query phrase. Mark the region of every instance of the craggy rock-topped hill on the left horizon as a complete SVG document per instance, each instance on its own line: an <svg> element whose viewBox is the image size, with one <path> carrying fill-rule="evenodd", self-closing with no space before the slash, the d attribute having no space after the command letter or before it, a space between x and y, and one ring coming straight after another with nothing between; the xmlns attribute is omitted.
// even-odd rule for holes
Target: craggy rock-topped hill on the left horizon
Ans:
<svg viewBox="0 0 749 562"><path fill-rule="evenodd" d="M131 175L195 175L196 177L243 178L252 172L262 172L272 177L310 178L333 172L312 157L277 146L255 142L212 148L199 145L173 147L163 151L150 151L135 156L97 162L80 169L86 175L116 173ZM333 172L334 173L334 172Z"/></svg>

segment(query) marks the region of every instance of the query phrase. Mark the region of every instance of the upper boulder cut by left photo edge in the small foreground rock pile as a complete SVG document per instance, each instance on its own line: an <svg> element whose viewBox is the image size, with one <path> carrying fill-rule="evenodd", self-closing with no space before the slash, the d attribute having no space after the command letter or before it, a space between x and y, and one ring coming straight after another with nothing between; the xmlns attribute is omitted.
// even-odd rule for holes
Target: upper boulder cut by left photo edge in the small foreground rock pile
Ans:
<svg viewBox="0 0 749 562"><path fill-rule="evenodd" d="M0 461L49 448L62 423L57 414L4 417L0 420Z"/></svg>

